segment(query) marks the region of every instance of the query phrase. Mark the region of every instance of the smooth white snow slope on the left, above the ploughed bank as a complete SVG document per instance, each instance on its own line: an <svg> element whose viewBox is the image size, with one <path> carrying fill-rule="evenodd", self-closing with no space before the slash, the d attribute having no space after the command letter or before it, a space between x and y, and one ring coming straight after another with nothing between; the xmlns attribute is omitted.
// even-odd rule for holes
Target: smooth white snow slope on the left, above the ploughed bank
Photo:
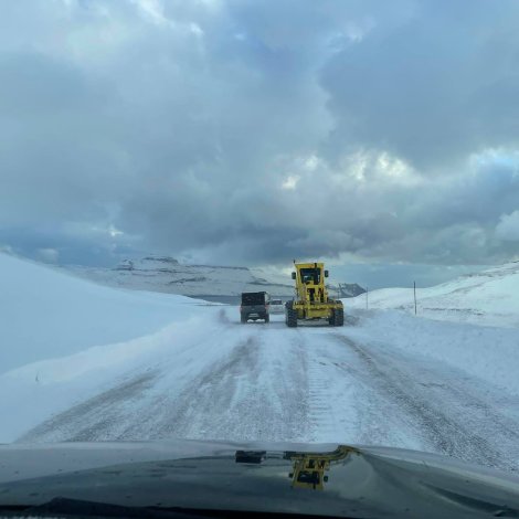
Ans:
<svg viewBox="0 0 519 519"><path fill-rule="evenodd" d="M98 286L0 253L0 373L156 332L202 310L183 296Z"/></svg>

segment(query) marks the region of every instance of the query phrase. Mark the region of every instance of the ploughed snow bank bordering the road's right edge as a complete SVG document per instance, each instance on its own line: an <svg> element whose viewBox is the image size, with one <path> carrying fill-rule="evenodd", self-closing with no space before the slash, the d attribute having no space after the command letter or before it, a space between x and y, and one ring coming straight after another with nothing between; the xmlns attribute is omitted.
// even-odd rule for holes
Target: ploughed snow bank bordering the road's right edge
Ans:
<svg viewBox="0 0 519 519"><path fill-rule="evenodd" d="M396 310L354 310L348 336L444 362L519 395L519 330L438 322Z"/></svg>

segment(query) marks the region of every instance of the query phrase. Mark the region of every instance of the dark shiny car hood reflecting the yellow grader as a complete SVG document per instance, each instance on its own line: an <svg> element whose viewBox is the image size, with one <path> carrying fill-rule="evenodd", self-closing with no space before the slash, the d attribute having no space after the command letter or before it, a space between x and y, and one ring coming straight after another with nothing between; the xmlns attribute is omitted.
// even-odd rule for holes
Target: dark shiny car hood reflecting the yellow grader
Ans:
<svg viewBox="0 0 519 519"><path fill-rule="evenodd" d="M519 478L427 453L336 444L0 446L0 506L56 497L336 517L517 517Z"/></svg>

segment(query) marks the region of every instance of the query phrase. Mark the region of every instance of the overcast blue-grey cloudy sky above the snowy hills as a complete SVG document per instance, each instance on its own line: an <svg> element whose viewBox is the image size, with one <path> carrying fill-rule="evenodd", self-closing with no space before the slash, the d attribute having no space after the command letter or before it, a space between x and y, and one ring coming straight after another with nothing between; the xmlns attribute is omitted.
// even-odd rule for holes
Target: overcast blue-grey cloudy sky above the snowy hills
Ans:
<svg viewBox="0 0 519 519"><path fill-rule="evenodd" d="M0 247L425 284L518 258L518 27L517 0L1 2Z"/></svg>

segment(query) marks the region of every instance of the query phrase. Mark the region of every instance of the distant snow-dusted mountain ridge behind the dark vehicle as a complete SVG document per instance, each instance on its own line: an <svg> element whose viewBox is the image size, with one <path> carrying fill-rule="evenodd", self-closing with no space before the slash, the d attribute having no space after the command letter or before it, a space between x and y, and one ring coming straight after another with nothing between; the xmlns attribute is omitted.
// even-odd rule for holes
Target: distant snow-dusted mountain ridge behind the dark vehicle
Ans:
<svg viewBox="0 0 519 519"><path fill-rule="evenodd" d="M272 280L261 269L209 265L182 265L167 256L125 261L115 268L66 267L82 277L108 286L182 294L191 297L239 296L242 292L266 290L273 296L290 297L290 278ZM272 274L269 274L272 277Z"/></svg>

